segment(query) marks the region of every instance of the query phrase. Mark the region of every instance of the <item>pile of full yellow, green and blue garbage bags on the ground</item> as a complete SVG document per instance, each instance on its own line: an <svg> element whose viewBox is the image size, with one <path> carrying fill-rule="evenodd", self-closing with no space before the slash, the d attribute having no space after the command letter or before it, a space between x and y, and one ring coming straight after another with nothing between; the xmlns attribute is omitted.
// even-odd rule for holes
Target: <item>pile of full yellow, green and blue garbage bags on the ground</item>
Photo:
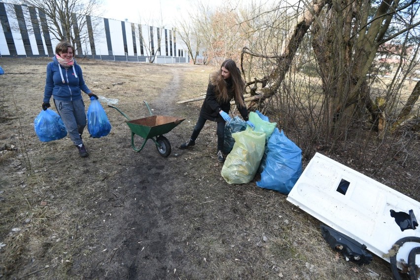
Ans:
<svg viewBox="0 0 420 280"><path fill-rule="evenodd" d="M243 184L258 172L258 187L287 195L302 174L302 150L259 111L250 112L249 120L254 130L239 117L226 124L224 152L229 154L222 177L229 184Z"/></svg>

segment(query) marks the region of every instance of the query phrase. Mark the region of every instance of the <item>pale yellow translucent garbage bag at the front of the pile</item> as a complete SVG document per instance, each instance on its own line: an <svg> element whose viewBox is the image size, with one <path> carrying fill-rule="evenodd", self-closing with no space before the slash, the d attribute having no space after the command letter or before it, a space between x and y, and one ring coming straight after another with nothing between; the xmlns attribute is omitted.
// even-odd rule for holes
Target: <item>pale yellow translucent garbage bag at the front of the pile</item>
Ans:
<svg viewBox="0 0 420 280"><path fill-rule="evenodd" d="M255 176L264 154L265 133L250 127L232 134L235 139L232 151L226 157L221 175L229 184L249 183Z"/></svg>

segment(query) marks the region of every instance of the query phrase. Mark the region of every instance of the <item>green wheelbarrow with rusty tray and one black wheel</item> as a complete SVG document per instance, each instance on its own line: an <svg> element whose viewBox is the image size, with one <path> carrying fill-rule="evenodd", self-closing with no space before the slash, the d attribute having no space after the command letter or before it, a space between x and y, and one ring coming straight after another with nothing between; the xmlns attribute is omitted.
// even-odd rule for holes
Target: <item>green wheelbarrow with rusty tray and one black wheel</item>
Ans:
<svg viewBox="0 0 420 280"><path fill-rule="evenodd" d="M163 136L165 133L170 132L183 120L177 117L153 115L147 102L143 101L149 110L150 117L145 117L137 120L130 120L130 118L124 114L120 109L115 106L109 105L108 107L116 109L120 112L128 121L126 121L128 127L131 130L131 146L136 152L140 152L147 140L151 139L156 144L156 149L159 154L163 157L167 157L171 154L171 143ZM134 136L138 135L143 138L143 144L140 149L134 144Z"/></svg>

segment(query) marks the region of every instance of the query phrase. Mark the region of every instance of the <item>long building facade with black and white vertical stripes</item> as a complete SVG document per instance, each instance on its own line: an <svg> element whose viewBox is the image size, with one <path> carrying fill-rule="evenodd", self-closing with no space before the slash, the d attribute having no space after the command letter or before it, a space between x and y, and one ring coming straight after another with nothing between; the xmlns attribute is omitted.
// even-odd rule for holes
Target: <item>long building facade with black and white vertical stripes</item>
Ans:
<svg viewBox="0 0 420 280"><path fill-rule="evenodd" d="M53 56L59 41L45 17L34 7L0 2L0 56ZM186 47L176 41L173 29L86 16L80 34L84 36L75 45L78 57L149 62L156 56L154 63L189 63Z"/></svg>

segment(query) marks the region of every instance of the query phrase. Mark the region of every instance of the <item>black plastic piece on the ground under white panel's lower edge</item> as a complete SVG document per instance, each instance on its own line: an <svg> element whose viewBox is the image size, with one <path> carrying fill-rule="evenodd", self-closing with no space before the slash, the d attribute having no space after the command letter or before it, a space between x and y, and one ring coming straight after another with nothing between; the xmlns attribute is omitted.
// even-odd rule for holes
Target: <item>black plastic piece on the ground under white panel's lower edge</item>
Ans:
<svg viewBox="0 0 420 280"><path fill-rule="evenodd" d="M321 233L330 247L346 257L346 260L357 265L369 264L372 261L372 255L366 252L366 245L325 225L321 225Z"/></svg>

